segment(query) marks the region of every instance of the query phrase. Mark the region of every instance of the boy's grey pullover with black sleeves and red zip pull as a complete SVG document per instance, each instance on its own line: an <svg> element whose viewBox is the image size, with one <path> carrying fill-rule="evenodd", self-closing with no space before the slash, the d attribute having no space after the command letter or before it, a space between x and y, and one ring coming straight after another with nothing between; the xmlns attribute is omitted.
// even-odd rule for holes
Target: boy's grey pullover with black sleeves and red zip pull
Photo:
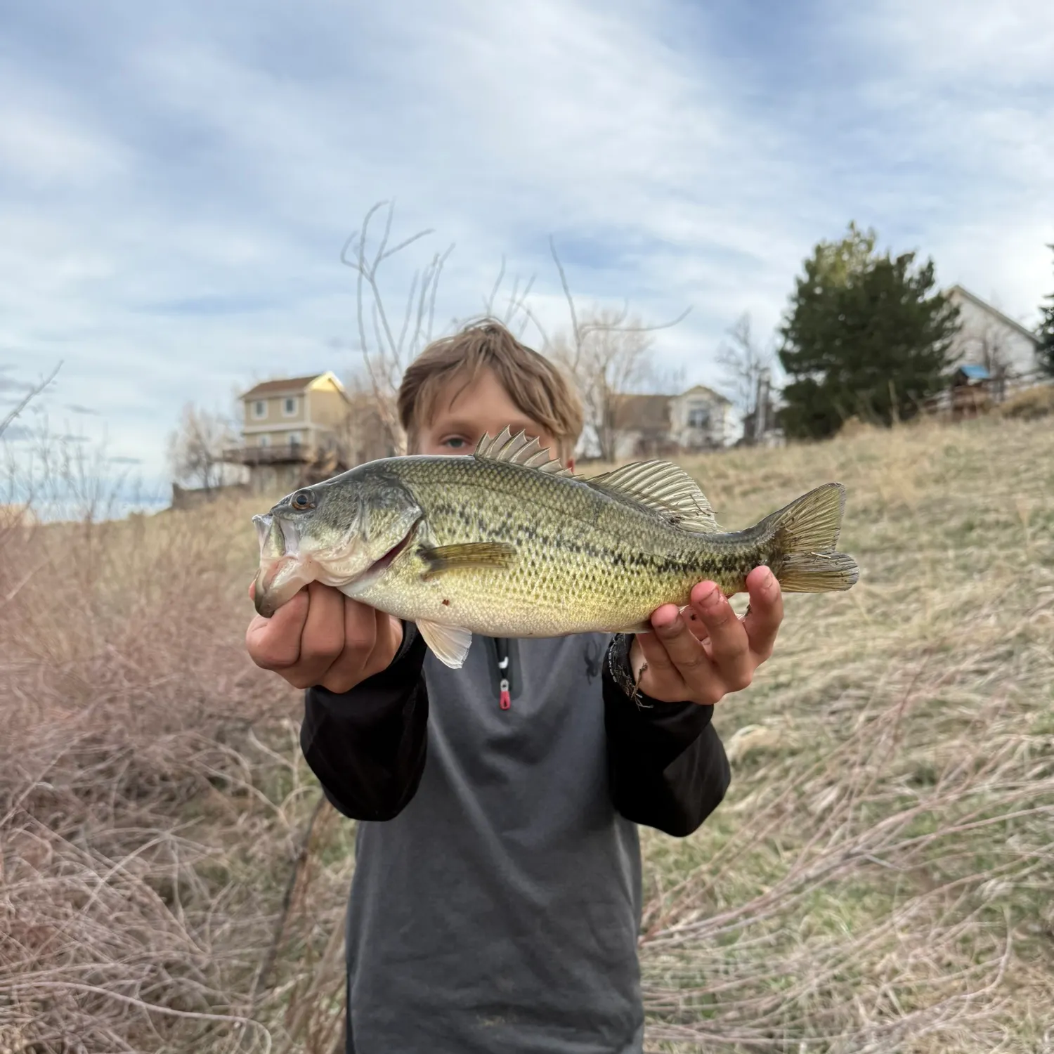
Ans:
<svg viewBox="0 0 1054 1054"><path fill-rule="evenodd" d="M636 824L690 834L729 773L713 707L631 700L608 646L476 638L451 670L408 625L388 669L307 692L308 763L363 821L349 1051L642 1049Z"/></svg>

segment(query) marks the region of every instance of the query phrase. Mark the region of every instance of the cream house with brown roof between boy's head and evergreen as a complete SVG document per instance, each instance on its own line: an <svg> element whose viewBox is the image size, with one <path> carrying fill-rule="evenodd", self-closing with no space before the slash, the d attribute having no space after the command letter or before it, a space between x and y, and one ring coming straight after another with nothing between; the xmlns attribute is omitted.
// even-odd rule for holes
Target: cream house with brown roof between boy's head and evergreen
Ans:
<svg viewBox="0 0 1054 1054"><path fill-rule="evenodd" d="M614 461L665 457L727 446L734 429L731 401L705 385L679 395L619 395L606 434L587 424L577 452L584 460L605 452Z"/></svg>

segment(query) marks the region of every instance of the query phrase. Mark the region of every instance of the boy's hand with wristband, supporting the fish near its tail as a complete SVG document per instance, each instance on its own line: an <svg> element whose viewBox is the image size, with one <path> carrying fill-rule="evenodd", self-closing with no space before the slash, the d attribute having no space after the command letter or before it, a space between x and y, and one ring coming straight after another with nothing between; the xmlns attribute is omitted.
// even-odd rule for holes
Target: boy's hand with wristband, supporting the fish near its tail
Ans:
<svg viewBox="0 0 1054 1054"><path fill-rule="evenodd" d="M691 590L683 614L676 604L652 612L653 631L638 633L629 652L644 695L666 703L713 705L750 683L773 653L783 621L783 594L767 567L750 571L746 588L750 607L742 620L713 582L700 582Z"/></svg>

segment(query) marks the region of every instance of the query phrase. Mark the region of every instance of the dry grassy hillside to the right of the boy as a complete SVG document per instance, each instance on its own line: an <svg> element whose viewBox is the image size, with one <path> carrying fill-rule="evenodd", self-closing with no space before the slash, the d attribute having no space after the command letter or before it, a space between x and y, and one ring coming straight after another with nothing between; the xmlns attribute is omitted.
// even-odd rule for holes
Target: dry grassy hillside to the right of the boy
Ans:
<svg viewBox="0 0 1054 1054"><path fill-rule="evenodd" d="M717 723L728 800L646 839L662 1050L1054 1050L1054 434L862 431L694 466L731 526L837 479L860 584L787 598Z"/></svg>

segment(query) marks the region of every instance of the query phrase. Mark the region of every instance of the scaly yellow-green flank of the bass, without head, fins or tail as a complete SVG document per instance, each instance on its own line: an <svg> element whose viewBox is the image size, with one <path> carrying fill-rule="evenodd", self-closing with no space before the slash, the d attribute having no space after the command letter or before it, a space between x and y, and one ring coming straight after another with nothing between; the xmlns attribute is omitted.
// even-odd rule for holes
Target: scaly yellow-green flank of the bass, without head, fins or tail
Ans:
<svg viewBox="0 0 1054 1054"><path fill-rule="evenodd" d="M739 534L711 535L700 548L697 536L648 509L519 465L407 458L398 475L427 510L434 544L506 542L518 553L507 570L426 581L422 596L425 564L408 548L358 597L399 618L484 625L499 637L629 629L663 603L686 604L703 579L736 592L765 562L763 547Z"/></svg>

